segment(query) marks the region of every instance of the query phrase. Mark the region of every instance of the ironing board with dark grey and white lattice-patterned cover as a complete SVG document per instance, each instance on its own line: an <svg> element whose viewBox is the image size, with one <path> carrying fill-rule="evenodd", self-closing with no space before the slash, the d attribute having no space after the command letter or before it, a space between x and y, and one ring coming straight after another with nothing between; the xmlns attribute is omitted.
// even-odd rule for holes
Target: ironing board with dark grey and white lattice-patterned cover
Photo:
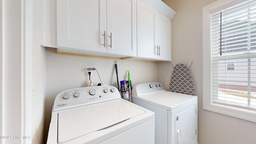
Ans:
<svg viewBox="0 0 256 144"><path fill-rule="evenodd" d="M195 86L192 76L185 64L177 64L172 72L170 91L182 94L195 95Z"/></svg>

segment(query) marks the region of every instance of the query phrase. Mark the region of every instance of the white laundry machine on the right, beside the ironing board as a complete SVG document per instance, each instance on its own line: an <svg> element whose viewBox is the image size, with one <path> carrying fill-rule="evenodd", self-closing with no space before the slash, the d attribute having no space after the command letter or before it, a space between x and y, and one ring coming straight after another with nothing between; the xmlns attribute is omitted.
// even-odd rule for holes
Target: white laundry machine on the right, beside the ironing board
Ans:
<svg viewBox="0 0 256 144"><path fill-rule="evenodd" d="M155 144L197 144L197 96L152 82L134 86L132 102L155 112Z"/></svg>

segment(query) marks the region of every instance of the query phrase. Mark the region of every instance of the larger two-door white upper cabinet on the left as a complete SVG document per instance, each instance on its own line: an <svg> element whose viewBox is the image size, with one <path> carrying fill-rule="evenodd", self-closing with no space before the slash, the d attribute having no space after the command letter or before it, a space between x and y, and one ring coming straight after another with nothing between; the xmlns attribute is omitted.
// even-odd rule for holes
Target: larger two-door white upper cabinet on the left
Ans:
<svg viewBox="0 0 256 144"><path fill-rule="evenodd" d="M136 56L136 0L56 0L56 45Z"/></svg>

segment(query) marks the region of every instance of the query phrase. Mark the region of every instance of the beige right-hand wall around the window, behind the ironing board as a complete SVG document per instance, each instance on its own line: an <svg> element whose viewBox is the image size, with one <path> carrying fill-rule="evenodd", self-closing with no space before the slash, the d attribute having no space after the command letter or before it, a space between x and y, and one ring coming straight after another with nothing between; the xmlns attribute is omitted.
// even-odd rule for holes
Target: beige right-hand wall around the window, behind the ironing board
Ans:
<svg viewBox="0 0 256 144"><path fill-rule="evenodd" d="M198 142L200 144L254 144L256 123L202 109L202 7L216 0L162 0L177 12L172 21L172 58L189 64L198 96ZM169 88L173 67L159 63L158 81Z"/></svg>

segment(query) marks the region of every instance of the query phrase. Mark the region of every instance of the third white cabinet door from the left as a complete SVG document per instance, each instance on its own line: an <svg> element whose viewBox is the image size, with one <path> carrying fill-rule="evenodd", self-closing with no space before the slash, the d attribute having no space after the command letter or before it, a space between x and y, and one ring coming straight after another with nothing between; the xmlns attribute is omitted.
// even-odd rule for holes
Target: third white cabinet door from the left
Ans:
<svg viewBox="0 0 256 144"><path fill-rule="evenodd" d="M156 9L138 0L137 2L138 57L156 58L155 24Z"/></svg>

